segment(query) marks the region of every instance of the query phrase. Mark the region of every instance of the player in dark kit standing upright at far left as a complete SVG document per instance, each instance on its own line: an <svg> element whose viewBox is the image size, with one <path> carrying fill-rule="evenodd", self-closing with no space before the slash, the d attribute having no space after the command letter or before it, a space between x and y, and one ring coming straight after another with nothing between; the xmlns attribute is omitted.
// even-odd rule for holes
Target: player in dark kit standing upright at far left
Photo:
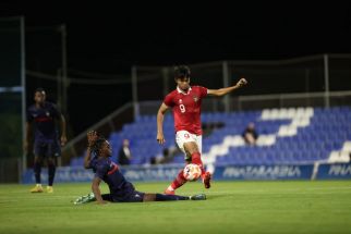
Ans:
<svg viewBox="0 0 351 234"><path fill-rule="evenodd" d="M56 172L57 157L61 156L61 146L66 143L65 120L58 108L46 101L46 93L43 88L37 88L34 94L35 103L27 110L26 139L24 149L28 151L33 124L34 133L34 174L36 185L31 193L43 193L41 186L41 163L46 159L48 163L49 181L47 193L53 193L52 184ZM61 137L59 139L56 120L60 122Z"/></svg>

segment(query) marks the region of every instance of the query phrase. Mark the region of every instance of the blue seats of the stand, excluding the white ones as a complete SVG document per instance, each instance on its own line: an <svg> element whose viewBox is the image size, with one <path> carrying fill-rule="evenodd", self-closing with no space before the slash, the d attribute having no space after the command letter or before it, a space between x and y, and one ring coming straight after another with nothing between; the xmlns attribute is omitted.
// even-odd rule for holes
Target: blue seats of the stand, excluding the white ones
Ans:
<svg viewBox="0 0 351 234"><path fill-rule="evenodd" d="M225 126L203 138L203 152L221 144L228 135L241 135L247 123L254 122L259 135L276 134L281 125L291 120L261 120L262 111L242 111L229 113L203 113L203 123L222 122ZM298 135L278 137L276 144L267 147L231 147L226 156L217 157L216 163L270 164L313 162L327 159L331 150L340 150L346 140L351 140L351 108L314 108L310 125L299 127ZM164 121L167 139L165 147L174 146L173 116L167 114ZM135 122L125 124L122 131L111 133L112 157L117 158L122 140L131 140L133 164L148 163L152 156L161 153L162 147L156 141L156 115L140 115ZM83 157L73 158L71 165L82 165ZM183 163L183 156L174 157L174 163Z"/></svg>

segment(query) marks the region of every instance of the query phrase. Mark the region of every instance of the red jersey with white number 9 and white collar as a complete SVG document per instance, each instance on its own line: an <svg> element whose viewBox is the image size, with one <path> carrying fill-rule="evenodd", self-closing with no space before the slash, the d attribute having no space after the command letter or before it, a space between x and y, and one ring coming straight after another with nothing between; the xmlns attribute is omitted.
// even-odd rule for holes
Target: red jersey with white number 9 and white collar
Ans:
<svg viewBox="0 0 351 234"><path fill-rule="evenodd" d="M206 95L207 88L191 86L187 94L177 87L165 97L164 103L173 109L175 132L184 130L192 134L202 135L201 103Z"/></svg>

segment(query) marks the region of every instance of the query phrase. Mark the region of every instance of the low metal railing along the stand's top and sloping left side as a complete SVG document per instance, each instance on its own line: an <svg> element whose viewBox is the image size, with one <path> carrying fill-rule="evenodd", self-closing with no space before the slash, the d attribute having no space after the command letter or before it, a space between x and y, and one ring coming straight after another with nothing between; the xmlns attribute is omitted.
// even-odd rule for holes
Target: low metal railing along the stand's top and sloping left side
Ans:
<svg viewBox="0 0 351 234"><path fill-rule="evenodd" d="M325 93L301 93L278 95L238 96L230 99L231 111L250 111L274 108L291 107L326 107ZM351 106L351 90L328 93L329 106ZM140 115L156 115L161 101L141 101L136 106L132 102L124 104L98 123L88 127L63 148L62 164L68 164L70 159L82 156L86 148L86 133L96 130L106 137L120 131L125 123L134 121L134 111ZM202 107L203 112L225 112L222 98L205 98ZM170 112L169 112L170 113ZM156 123L155 123L156 125Z"/></svg>

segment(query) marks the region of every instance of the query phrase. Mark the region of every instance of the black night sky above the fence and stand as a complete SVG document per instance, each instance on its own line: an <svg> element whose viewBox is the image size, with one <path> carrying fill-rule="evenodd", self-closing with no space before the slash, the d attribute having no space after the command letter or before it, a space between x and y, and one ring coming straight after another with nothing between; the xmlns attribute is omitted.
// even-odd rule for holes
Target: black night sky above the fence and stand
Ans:
<svg viewBox="0 0 351 234"><path fill-rule="evenodd" d="M338 1L78 2L1 1L0 16L24 15L27 27L65 24L69 71L351 53L351 8Z"/></svg>

